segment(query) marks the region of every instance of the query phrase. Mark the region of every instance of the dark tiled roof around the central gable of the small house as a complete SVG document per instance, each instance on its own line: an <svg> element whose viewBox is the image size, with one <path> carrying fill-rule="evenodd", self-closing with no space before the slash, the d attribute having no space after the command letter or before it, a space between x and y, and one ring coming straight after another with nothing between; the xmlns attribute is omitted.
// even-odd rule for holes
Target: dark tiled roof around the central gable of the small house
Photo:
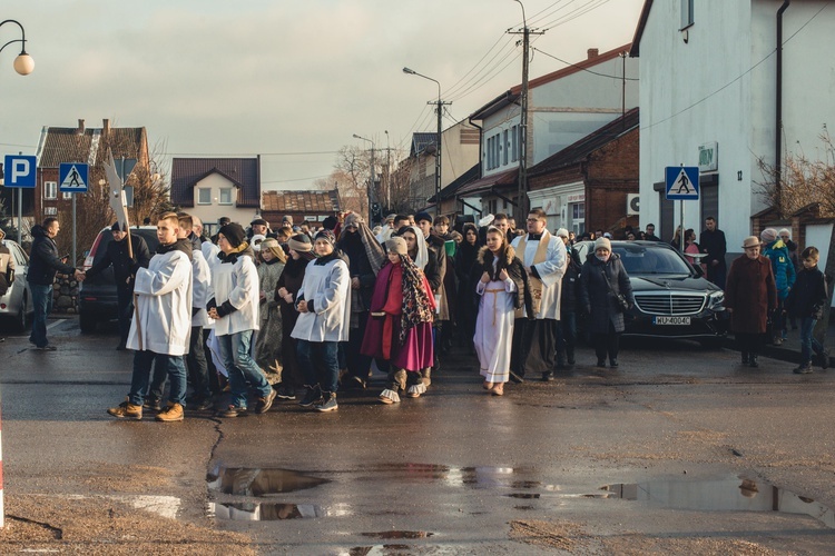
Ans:
<svg viewBox="0 0 835 556"><path fill-rule="evenodd" d="M194 206L194 187L207 176L219 173L238 188L236 205L259 208L258 158L175 158L171 160L171 202Z"/></svg>

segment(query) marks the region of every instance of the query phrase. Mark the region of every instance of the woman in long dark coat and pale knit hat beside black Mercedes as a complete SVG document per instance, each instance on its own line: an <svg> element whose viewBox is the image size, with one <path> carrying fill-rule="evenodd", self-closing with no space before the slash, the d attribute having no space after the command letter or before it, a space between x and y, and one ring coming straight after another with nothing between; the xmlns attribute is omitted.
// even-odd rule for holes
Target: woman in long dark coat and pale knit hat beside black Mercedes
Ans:
<svg viewBox="0 0 835 556"><path fill-rule="evenodd" d="M620 335L623 331L623 314L618 302L622 295L629 306L635 305L629 276L620 261L620 256L611 252L607 238L595 241L595 252L590 254L580 272L580 306L590 315L588 320L597 366L618 367Z"/></svg>

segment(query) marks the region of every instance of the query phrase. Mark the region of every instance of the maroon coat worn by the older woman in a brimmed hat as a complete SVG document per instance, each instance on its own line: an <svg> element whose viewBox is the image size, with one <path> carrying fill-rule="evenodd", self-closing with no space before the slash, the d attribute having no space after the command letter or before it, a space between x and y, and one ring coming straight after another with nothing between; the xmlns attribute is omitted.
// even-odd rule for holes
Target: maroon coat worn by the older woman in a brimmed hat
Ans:
<svg viewBox="0 0 835 556"><path fill-rule="evenodd" d="M777 285L772 261L762 255L756 259L743 255L734 260L725 286L725 307L733 309L733 331L765 332L768 315L777 308Z"/></svg>

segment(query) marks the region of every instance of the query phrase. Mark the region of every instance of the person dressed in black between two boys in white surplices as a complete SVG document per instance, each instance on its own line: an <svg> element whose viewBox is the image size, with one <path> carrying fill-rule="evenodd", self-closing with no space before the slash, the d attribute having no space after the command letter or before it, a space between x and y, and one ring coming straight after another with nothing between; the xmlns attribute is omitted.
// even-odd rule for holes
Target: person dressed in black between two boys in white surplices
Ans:
<svg viewBox="0 0 835 556"><path fill-rule="evenodd" d="M289 257L287 257L287 264L275 286L275 299L278 300L278 308L282 311L282 349L284 350L284 370L277 391L279 398L295 399L296 386L302 386L304 379L296 358L296 340L291 338L289 335L296 326L296 320L298 320L298 311L294 305L296 294L304 281L307 262L313 260L314 255L311 239L304 234L289 238L287 246L289 247Z"/></svg>

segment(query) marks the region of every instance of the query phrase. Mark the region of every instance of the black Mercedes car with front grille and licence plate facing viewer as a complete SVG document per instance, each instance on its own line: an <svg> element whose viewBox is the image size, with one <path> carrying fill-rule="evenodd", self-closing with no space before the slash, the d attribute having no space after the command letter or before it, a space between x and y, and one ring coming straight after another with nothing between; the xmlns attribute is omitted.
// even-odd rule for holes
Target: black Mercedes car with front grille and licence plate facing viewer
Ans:
<svg viewBox="0 0 835 556"><path fill-rule="evenodd" d="M595 242L580 241L574 248L584 262ZM710 342L727 334L725 292L703 276L698 265L658 241L612 241L611 248L620 256L635 295L635 307L623 315L625 335Z"/></svg>

